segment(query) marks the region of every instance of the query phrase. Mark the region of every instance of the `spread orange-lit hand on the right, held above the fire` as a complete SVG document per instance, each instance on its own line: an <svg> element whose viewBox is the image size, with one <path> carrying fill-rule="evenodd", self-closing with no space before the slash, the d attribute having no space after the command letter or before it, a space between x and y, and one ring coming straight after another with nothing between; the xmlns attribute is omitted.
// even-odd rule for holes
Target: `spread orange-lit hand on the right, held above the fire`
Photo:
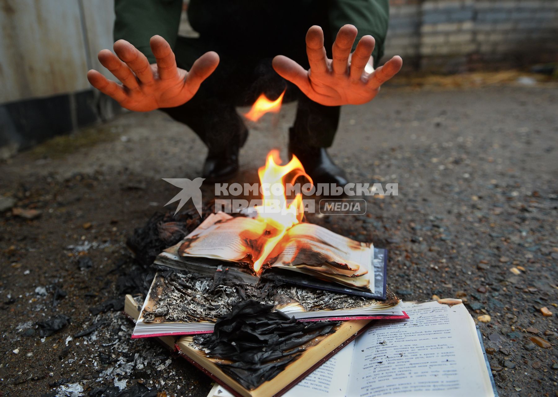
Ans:
<svg viewBox="0 0 558 397"><path fill-rule="evenodd" d="M354 52L357 28L340 28L333 44L333 60L326 57L324 32L312 26L306 34L306 53L310 70L283 55L273 59L273 69L284 79L297 85L307 97L325 106L358 105L372 101L380 86L391 79L403 64L394 56L374 70L372 51L374 37L363 36Z"/></svg>

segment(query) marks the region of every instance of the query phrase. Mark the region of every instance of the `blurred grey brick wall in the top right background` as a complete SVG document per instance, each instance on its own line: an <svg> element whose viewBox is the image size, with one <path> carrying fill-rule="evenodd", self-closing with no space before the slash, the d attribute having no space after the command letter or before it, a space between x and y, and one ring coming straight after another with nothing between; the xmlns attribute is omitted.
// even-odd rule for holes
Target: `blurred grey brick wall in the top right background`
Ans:
<svg viewBox="0 0 558 397"><path fill-rule="evenodd" d="M557 0L392 0L386 55L407 70L521 67L558 61L556 37Z"/></svg>

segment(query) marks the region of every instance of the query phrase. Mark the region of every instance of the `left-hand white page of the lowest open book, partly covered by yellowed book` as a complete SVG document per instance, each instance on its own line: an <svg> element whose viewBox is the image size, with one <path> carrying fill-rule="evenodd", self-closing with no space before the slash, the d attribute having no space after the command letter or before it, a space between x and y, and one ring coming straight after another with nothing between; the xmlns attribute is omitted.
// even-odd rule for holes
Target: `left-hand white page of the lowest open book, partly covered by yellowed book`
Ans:
<svg viewBox="0 0 558 397"><path fill-rule="evenodd" d="M339 350L299 383L287 390L283 397L331 397L344 396L347 390L350 361L355 341ZM222 386L211 389L208 397L233 397Z"/></svg>

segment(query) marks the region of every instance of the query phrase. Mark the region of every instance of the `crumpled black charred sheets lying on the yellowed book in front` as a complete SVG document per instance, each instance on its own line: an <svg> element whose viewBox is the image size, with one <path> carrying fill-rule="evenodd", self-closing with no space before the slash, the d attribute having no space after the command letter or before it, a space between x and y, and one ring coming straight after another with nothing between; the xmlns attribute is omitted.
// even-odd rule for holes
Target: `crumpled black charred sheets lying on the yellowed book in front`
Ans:
<svg viewBox="0 0 558 397"><path fill-rule="evenodd" d="M335 321L300 322L272 311L273 305L246 300L220 317L212 334L194 337L196 347L219 363L228 375L249 390L273 379L304 350L305 343L335 332Z"/></svg>

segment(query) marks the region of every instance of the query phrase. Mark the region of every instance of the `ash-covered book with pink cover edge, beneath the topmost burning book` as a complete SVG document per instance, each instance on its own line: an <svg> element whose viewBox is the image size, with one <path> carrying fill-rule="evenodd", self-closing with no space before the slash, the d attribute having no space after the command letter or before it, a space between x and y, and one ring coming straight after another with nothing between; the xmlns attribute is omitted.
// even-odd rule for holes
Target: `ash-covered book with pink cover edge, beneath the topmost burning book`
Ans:
<svg viewBox="0 0 558 397"><path fill-rule="evenodd" d="M234 279L215 283L215 279L167 271L155 276L132 338L211 333L219 317L249 299L302 322L408 318L389 290L388 299L376 300L288 284L269 283L262 288Z"/></svg>

